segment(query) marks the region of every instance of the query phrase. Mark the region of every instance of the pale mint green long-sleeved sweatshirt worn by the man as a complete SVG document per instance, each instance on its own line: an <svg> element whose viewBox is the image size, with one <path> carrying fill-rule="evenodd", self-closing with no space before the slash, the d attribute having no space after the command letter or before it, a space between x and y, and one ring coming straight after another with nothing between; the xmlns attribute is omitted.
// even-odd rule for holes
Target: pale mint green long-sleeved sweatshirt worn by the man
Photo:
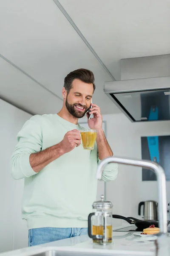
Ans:
<svg viewBox="0 0 170 256"><path fill-rule="evenodd" d="M88 214L96 201L97 145L82 145L49 163L40 172L31 168L29 156L62 141L64 135L82 127L57 114L31 117L17 135L12 155L12 176L24 178L22 218L28 229L39 227L87 227ZM114 180L117 164L106 166L102 180Z"/></svg>

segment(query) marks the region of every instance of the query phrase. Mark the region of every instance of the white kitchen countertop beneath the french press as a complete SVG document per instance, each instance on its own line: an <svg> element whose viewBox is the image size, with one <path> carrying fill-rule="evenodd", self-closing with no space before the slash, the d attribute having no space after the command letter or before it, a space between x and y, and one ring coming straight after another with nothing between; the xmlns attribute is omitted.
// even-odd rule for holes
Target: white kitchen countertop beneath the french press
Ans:
<svg viewBox="0 0 170 256"><path fill-rule="evenodd" d="M137 236L133 233L128 232L113 232L113 243L106 245L105 247L99 244L94 244L92 239L88 235L72 237L69 239L54 241L48 244L42 244L39 246L22 248L20 250L14 250L6 253L0 253L0 256L29 256L33 253L41 253L46 250L57 250L57 251L69 251L69 252L87 252L89 254L97 255L140 255L140 256L156 256L156 246L155 241L156 237L152 238L151 236ZM151 241L153 240L153 241ZM166 244L164 241L166 240ZM170 246L170 236L161 241L164 249L167 244ZM166 248L165 248L166 249ZM167 249L170 255L170 247ZM163 253L163 254L162 254ZM159 255L166 256L166 253L162 252Z"/></svg>

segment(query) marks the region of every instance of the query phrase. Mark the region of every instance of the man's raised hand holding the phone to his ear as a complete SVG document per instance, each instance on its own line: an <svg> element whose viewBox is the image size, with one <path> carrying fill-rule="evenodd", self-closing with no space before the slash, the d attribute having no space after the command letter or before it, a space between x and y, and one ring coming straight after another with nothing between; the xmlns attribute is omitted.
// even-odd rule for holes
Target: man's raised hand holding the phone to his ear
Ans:
<svg viewBox="0 0 170 256"><path fill-rule="evenodd" d="M102 115L100 113L100 108L96 105L91 103L91 112L87 113L87 118L89 115L93 114L94 118L88 120L88 126L91 129L101 130L102 129Z"/></svg>

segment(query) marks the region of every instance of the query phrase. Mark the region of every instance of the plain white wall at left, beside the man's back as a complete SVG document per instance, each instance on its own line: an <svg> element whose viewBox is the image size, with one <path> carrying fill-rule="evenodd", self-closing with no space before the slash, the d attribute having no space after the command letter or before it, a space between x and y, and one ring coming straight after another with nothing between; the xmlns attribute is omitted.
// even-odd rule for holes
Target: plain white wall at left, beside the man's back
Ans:
<svg viewBox="0 0 170 256"><path fill-rule="evenodd" d="M30 114L0 99L0 252L26 247L26 221L21 219L24 180L11 177L10 157L17 133Z"/></svg>

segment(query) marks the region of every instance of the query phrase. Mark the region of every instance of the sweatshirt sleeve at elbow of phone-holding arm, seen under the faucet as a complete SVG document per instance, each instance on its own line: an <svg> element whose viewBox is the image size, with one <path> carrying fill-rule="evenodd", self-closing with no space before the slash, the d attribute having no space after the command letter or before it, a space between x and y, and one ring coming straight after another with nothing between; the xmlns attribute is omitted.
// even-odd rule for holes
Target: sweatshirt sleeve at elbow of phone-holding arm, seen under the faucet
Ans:
<svg viewBox="0 0 170 256"><path fill-rule="evenodd" d="M102 160L99 160L98 156L98 164L100 164ZM117 163L108 163L105 169L102 172L102 180L103 181L111 181L115 180L118 174L118 164Z"/></svg>

